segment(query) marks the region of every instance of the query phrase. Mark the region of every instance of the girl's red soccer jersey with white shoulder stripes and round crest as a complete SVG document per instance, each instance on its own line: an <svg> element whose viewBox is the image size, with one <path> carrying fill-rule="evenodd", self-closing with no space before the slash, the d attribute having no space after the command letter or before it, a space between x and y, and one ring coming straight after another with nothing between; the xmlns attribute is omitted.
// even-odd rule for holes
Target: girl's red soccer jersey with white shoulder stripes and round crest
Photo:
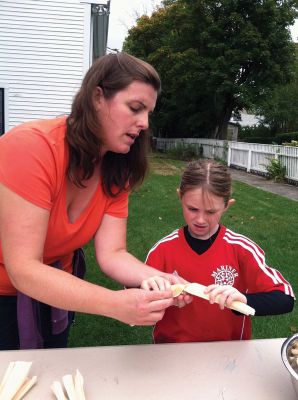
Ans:
<svg viewBox="0 0 298 400"><path fill-rule="evenodd" d="M242 293L281 290L294 296L280 272L266 265L264 251L247 237L221 226L212 246L199 255L188 245L183 228L157 242L146 263L178 273L202 285L231 285ZM230 309L194 297L191 304L169 307L154 328L155 343L207 342L251 338L251 320Z"/></svg>

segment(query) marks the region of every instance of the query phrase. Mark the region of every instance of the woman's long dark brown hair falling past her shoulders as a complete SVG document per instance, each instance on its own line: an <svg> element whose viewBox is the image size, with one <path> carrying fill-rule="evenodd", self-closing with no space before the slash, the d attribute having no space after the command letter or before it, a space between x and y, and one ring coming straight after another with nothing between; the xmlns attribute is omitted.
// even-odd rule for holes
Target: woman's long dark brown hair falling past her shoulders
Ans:
<svg viewBox="0 0 298 400"><path fill-rule="evenodd" d="M133 81L151 85L160 93L160 78L145 61L126 53L98 58L88 70L67 118L66 140L70 149L67 175L77 186L89 179L100 162L103 190L110 196L133 190L142 183L148 169L148 132L142 131L127 154L108 151L100 159L99 122L93 94L100 87L106 99L124 90ZM115 191L117 187L117 191Z"/></svg>

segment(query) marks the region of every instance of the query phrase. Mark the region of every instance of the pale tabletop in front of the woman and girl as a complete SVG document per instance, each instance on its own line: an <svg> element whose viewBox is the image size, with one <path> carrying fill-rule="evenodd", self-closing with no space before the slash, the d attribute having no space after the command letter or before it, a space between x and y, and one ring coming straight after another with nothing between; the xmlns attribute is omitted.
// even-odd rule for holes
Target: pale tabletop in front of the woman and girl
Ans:
<svg viewBox="0 0 298 400"><path fill-rule="evenodd" d="M297 400L284 340L0 351L0 377L9 361L33 361L26 400L53 400L52 382L76 368L87 400Z"/></svg>

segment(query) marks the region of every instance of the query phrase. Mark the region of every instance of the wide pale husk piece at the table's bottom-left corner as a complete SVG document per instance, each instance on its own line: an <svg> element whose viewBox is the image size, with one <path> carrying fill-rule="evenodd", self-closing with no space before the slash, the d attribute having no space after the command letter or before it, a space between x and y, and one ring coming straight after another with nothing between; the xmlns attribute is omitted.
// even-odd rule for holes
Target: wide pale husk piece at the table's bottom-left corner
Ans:
<svg viewBox="0 0 298 400"><path fill-rule="evenodd" d="M9 366L8 376L5 374L4 386L1 389L0 400L12 400L26 381L32 362L16 361Z"/></svg>

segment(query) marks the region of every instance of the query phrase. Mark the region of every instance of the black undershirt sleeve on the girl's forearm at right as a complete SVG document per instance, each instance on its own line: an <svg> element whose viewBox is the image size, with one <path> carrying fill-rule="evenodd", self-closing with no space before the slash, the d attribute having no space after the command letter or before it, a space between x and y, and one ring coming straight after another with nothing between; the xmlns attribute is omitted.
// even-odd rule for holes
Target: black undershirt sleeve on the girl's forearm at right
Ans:
<svg viewBox="0 0 298 400"><path fill-rule="evenodd" d="M294 298L280 290L246 294L245 296L247 304L256 310L256 316L285 314L294 308Z"/></svg>

